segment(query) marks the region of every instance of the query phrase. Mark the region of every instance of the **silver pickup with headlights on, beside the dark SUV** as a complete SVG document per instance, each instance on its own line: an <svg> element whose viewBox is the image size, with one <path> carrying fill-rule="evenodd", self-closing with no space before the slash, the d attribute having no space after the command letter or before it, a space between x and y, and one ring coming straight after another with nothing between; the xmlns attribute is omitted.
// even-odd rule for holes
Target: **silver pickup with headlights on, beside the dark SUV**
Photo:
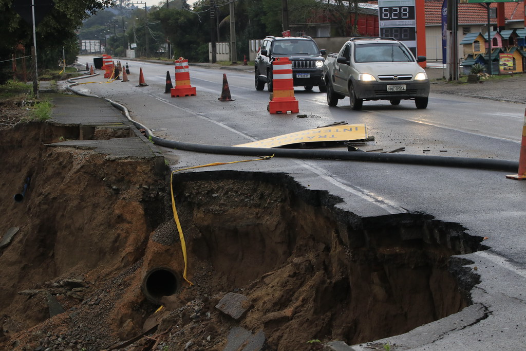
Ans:
<svg viewBox="0 0 526 351"><path fill-rule="evenodd" d="M327 85L327 104L349 96L352 109L364 101L388 100L392 105L412 99L417 108L426 108L430 83L426 71L409 48L395 38L353 37L340 52L330 53L323 63Z"/></svg>

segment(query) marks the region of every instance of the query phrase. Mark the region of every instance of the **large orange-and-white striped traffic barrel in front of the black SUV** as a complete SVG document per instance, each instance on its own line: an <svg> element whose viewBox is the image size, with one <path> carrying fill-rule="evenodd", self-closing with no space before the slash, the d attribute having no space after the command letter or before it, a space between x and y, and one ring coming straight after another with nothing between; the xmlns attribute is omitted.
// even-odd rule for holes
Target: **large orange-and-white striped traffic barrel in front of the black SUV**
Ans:
<svg viewBox="0 0 526 351"><path fill-rule="evenodd" d="M278 57L272 62L272 101L269 102L269 112L298 113L298 101L294 97L294 81L292 80L292 63L288 57Z"/></svg>

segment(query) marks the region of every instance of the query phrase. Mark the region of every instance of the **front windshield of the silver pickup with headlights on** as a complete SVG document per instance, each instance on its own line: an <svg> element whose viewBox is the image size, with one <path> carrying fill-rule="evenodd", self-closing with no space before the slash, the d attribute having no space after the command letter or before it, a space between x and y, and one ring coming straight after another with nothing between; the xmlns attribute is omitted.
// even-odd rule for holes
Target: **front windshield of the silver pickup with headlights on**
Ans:
<svg viewBox="0 0 526 351"><path fill-rule="evenodd" d="M355 62L412 62L411 52L401 44L360 44L355 46Z"/></svg>

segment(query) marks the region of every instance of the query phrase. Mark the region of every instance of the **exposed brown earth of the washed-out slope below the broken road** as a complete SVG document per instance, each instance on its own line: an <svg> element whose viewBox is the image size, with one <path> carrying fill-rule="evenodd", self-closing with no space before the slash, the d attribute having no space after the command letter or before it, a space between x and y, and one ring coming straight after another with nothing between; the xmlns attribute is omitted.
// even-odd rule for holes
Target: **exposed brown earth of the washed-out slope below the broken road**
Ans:
<svg viewBox="0 0 526 351"><path fill-rule="evenodd" d="M175 176L189 286L153 162L44 145L62 135L30 123L0 141L0 235L19 228L0 249L0 348L235 350L245 335L239 345L319 349L407 332L470 303L477 277L450 256L481 238L421 214L358 218L282 174ZM165 306L157 313L152 295Z"/></svg>

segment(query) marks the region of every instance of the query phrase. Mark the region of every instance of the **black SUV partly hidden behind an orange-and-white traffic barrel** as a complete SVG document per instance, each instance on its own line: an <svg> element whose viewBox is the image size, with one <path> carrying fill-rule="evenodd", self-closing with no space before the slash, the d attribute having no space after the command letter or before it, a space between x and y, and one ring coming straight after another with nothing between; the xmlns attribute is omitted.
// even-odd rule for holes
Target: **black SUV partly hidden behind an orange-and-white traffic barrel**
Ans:
<svg viewBox="0 0 526 351"><path fill-rule="evenodd" d="M263 90L266 83L268 91L272 91L272 61L276 57L288 57L292 62L294 86L304 86L305 90L318 86L320 92L325 93L327 89L323 80L325 58L322 55L326 53L327 51L320 50L309 36L267 36L254 62L256 90Z"/></svg>

